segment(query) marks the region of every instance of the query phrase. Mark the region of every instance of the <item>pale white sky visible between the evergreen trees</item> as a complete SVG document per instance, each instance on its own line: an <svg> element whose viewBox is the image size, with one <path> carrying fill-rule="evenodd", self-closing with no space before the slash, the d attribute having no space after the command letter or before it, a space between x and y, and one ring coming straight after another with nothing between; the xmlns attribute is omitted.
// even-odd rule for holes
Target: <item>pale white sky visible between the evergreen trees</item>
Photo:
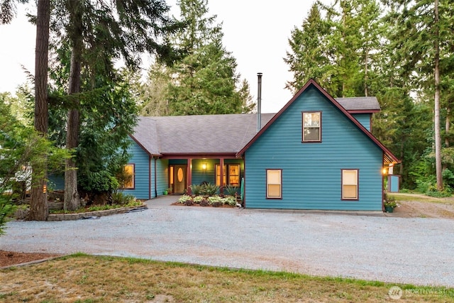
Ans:
<svg viewBox="0 0 454 303"><path fill-rule="evenodd" d="M177 0L167 0L171 13ZM258 72L262 73L262 112L275 113L292 99L285 89L292 79L284 62L288 43L295 27L309 13L313 0L209 0L208 16L216 15L222 23L223 45L236 58L236 72L246 79L253 101L257 101ZM331 3L331 1L323 1ZM0 25L0 92L14 94L26 82L23 67L34 74L35 27L25 18L26 6L18 6L18 16L8 25ZM33 11L33 6L28 8ZM145 69L148 67L144 67Z"/></svg>

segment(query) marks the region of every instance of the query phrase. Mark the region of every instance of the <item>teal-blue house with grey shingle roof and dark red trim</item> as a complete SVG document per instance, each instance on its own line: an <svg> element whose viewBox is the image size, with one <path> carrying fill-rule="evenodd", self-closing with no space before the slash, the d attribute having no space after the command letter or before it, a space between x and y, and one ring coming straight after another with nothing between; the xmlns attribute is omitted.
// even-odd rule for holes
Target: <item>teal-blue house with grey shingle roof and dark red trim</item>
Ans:
<svg viewBox="0 0 454 303"><path fill-rule="evenodd" d="M246 208L382 211L382 169L399 160L371 133L375 97L334 99L314 80L277 114L141 117L125 192L240 187ZM258 127L260 123L260 127Z"/></svg>

